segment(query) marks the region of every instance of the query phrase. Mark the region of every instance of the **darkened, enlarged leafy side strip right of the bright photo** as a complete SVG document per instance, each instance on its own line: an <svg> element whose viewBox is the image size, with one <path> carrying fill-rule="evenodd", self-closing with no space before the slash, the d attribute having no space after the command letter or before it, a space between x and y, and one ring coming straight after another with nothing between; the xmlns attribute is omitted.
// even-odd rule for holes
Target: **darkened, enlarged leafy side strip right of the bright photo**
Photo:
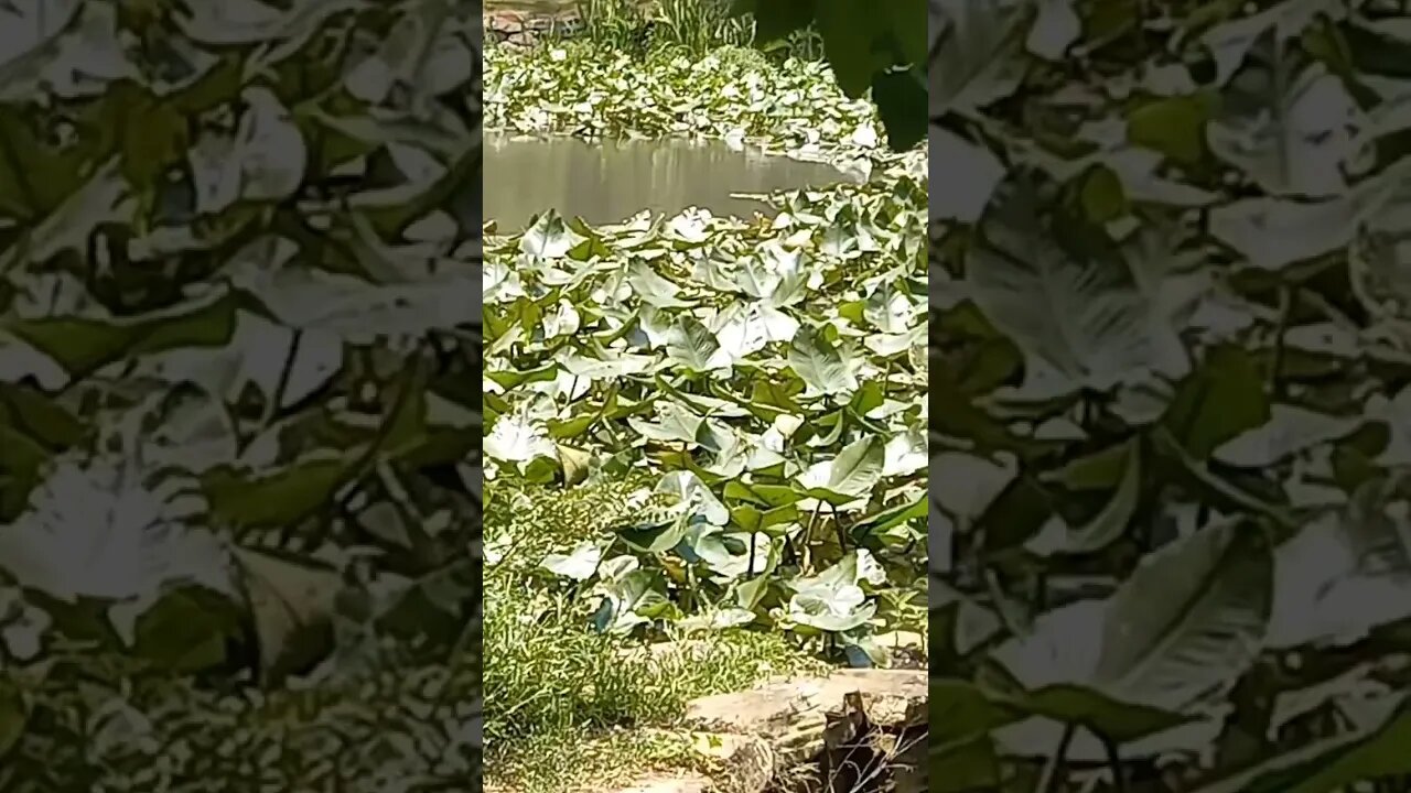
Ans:
<svg viewBox="0 0 1411 793"><path fill-rule="evenodd" d="M933 785L1405 790L1407 6L933 14Z"/></svg>

